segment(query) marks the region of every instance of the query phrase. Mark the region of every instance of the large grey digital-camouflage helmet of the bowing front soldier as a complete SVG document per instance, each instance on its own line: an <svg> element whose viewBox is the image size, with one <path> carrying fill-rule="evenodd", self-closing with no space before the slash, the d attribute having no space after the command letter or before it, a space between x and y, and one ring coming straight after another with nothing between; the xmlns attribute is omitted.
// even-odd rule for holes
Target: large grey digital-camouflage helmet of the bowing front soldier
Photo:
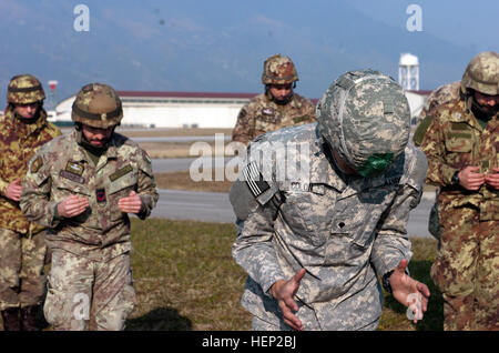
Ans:
<svg viewBox="0 0 499 353"><path fill-rule="evenodd" d="M318 130L363 176L384 172L404 152L410 110L403 88L370 69L349 71L317 103Z"/></svg>

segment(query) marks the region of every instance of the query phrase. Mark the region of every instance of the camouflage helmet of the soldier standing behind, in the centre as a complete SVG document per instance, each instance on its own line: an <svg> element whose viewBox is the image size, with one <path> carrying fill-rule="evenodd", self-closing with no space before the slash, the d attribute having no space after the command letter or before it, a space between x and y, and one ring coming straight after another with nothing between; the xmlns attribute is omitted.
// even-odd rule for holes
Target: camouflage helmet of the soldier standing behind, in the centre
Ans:
<svg viewBox="0 0 499 353"><path fill-rule="evenodd" d="M263 84L287 84L298 81L295 64L288 57L275 54L264 62Z"/></svg>

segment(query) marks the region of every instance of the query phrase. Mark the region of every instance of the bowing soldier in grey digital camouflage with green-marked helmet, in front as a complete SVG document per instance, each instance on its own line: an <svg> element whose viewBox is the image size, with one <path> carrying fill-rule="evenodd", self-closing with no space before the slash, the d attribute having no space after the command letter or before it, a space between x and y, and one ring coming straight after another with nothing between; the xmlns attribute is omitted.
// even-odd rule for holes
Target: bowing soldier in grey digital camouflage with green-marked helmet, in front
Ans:
<svg viewBox="0 0 499 353"><path fill-rule="evenodd" d="M249 144L231 193L253 199L249 210L234 203L247 219L233 256L248 273L242 304L254 330L375 330L383 309L377 275L406 306L419 299L415 321L422 317L429 291L406 272L406 223L427 162L407 144L409 118L391 78L352 71L318 102L317 123ZM297 173L277 172L296 163Z"/></svg>

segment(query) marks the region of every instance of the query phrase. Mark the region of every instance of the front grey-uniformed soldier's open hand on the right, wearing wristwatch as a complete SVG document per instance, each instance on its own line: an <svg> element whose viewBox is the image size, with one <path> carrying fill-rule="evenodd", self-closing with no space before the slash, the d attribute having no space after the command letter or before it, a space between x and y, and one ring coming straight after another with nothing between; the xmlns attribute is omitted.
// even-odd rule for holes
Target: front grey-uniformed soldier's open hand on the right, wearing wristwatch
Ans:
<svg viewBox="0 0 499 353"><path fill-rule="evenodd" d="M411 279L406 273L407 260L404 259L390 275L390 285L394 297L413 311L413 322L422 319L422 313L428 307L430 292L425 283Z"/></svg>

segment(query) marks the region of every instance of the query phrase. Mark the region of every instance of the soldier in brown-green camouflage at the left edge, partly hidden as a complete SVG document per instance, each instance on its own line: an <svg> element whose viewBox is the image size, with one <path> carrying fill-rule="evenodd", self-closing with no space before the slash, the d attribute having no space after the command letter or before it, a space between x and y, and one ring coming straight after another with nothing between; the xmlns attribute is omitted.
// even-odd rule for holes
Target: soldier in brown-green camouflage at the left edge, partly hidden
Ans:
<svg viewBox="0 0 499 353"><path fill-rule="evenodd" d="M10 80L0 120L0 310L6 331L33 331L44 293L44 229L19 208L21 183L37 150L61 134L47 121L45 94L31 74Z"/></svg>

